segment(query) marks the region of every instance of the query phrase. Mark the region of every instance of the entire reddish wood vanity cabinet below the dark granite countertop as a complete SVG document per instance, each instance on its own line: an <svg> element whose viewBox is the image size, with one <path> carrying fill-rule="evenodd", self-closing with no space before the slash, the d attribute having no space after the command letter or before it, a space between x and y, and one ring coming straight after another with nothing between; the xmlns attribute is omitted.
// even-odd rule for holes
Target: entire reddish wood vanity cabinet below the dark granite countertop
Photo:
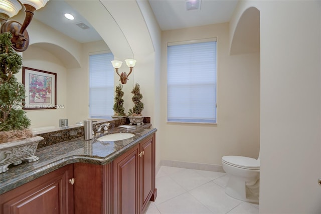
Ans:
<svg viewBox="0 0 321 214"><path fill-rule="evenodd" d="M139 214L155 197L153 134L111 163L69 164L1 194L0 213Z"/></svg>

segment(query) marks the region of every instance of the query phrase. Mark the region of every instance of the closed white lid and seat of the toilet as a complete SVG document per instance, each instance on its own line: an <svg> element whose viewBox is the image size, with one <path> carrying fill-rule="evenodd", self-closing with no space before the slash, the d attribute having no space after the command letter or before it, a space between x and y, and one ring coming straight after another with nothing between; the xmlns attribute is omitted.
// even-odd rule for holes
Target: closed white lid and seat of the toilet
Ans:
<svg viewBox="0 0 321 214"><path fill-rule="evenodd" d="M260 169L260 160L251 157L224 156L222 157L222 161L226 164L244 169Z"/></svg>

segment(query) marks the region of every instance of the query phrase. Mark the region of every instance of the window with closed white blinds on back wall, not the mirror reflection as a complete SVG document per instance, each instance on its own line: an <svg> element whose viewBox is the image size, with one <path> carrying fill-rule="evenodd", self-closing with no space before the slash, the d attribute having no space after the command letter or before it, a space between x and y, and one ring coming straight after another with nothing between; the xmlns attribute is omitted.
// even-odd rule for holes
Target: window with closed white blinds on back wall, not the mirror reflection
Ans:
<svg viewBox="0 0 321 214"><path fill-rule="evenodd" d="M168 44L169 122L216 123L216 39Z"/></svg>

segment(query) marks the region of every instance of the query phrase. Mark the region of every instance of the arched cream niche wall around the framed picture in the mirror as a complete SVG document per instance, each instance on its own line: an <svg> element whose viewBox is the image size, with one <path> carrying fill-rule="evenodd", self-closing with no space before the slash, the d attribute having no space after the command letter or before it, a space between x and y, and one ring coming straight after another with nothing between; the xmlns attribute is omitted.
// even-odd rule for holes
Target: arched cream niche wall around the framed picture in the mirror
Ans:
<svg viewBox="0 0 321 214"><path fill-rule="evenodd" d="M59 50L60 53L57 54L53 52L53 49ZM60 50L60 48L54 44L37 43L30 45L28 49L22 54L23 66L57 74L56 102L58 105L65 105L64 108L57 109L26 110L26 115L31 120L30 128L34 129L37 127L59 127L59 119L66 118L68 110L68 69L65 65L66 62L63 62L63 57L66 57L68 55L68 52L64 49ZM22 75L19 76L22 77ZM25 78L27 83L29 81L29 78L28 76L25 76ZM29 93L26 93L26 96L30 96Z"/></svg>

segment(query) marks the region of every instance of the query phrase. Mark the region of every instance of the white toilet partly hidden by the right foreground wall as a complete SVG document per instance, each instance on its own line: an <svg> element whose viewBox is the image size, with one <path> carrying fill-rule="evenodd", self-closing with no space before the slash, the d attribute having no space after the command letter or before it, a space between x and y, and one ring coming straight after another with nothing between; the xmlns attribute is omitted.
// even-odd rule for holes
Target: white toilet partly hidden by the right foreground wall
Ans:
<svg viewBox="0 0 321 214"><path fill-rule="evenodd" d="M258 159L243 156L222 157L229 180L225 192L239 200L259 203L260 155Z"/></svg>

